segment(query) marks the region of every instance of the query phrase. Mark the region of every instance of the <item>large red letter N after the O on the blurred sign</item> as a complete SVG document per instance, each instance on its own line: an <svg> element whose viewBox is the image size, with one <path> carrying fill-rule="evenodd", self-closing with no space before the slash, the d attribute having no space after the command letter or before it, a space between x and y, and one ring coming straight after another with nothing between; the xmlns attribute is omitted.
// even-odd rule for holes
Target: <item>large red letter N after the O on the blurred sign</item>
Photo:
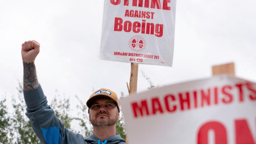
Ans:
<svg viewBox="0 0 256 144"><path fill-rule="evenodd" d="M245 119L235 120L236 144L256 144L251 135L250 128Z"/></svg>

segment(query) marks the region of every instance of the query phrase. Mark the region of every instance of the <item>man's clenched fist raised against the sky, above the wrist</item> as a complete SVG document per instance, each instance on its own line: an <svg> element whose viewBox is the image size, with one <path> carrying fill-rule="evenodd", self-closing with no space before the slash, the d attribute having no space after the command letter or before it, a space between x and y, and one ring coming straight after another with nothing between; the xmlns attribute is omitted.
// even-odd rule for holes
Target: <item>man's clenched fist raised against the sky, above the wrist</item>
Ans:
<svg viewBox="0 0 256 144"><path fill-rule="evenodd" d="M40 51L40 44L37 41L25 41L21 47L21 57L24 62L35 62Z"/></svg>

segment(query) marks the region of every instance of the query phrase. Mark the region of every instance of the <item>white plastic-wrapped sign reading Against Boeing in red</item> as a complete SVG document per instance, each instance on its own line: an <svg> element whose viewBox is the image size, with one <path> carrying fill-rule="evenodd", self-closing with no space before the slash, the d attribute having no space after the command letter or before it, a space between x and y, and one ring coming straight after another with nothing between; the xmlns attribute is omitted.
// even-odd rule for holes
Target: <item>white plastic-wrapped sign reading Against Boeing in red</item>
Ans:
<svg viewBox="0 0 256 144"><path fill-rule="evenodd" d="M172 66L176 0L105 0L100 59Z"/></svg>

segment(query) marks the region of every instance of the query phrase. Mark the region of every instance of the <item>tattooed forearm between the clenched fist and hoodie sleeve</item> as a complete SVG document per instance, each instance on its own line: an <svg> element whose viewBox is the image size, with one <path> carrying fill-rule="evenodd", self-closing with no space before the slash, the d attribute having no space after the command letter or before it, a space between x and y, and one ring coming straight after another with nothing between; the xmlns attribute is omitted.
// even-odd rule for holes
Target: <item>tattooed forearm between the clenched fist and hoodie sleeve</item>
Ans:
<svg viewBox="0 0 256 144"><path fill-rule="evenodd" d="M37 88L39 86L39 82L37 80L34 62L23 61L23 70L23 90L29 91Z"/></svg>

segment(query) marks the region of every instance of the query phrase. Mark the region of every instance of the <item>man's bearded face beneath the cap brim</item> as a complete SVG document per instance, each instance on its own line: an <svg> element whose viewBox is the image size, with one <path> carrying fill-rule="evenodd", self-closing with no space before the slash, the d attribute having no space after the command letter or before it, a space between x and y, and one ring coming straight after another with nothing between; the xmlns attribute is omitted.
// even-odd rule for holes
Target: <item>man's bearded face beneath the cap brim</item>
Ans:
<svg viewBox="0 0 256 144"><path fill-rule="evenodd" d="M107 98L94 101L89 110L89 121L93 126L111 126L119 119L116 104Z"/></svg>

